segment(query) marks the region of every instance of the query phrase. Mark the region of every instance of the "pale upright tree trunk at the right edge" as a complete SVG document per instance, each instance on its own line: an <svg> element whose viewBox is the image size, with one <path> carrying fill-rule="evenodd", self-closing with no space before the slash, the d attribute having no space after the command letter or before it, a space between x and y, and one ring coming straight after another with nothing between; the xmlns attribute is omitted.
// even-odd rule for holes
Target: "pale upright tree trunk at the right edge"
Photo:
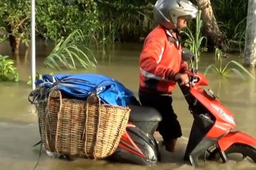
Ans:
<svg viewBox="0 0 256 170"><path fill-rule="evenodd" d="M256 66L256 1L248 1L246 35L245 35L245 66Z"/></svg>

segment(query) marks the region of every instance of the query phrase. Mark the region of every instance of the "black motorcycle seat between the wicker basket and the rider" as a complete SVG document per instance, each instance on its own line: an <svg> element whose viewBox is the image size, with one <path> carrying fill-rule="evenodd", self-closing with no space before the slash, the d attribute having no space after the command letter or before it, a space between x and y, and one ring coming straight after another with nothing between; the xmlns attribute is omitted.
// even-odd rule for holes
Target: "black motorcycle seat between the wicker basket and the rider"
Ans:
<svg viewBox="0 0 256 170"><path fill-rule="evenodd" d="M154 108L134 105L129 105L129 108L131 109L129 120L133 123L161 121L160 113Z"/></svg>

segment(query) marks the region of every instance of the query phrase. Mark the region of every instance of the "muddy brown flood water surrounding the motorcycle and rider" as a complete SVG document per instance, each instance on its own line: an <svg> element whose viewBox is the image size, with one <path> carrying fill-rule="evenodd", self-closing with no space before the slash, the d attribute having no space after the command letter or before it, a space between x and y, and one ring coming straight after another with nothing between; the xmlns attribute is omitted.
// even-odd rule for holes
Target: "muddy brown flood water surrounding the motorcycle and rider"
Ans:
<svg viewBox="0 0 256 170"><path fill-rule="evenodd" d="M117 45L114 50L107 51L106 55L95 52L99 66L86 71L75 72L62 71L61 73L82 73L90 72L106 74L119 80L127 88L137 94L139 79L138 60L142 44ZM37 72L41 74L60 73L53 69L43 68L43 57L49 52L45 45L37 47ZM28 170L33 169L38 160L40 146L32 147L40 141L38 131L38 118L35 108L28 102L28 94L31 86L28 86L28 76L31 74L30 54L22 48L19 55L11 55L8 44L0 44L0 54L10 55L16 60L16 67L20 74L18 83L0 82L0 169L1 170ZM231 56L237 58L238 56ZM224 61L225 62L225 61ZM206 54L201 57L199 69L213 64L213 54ZM255 74L255 70L252 71ZM236 130L241 130L256 137L256 83L255 81L243 81L237 76L223 79L216 74L208 74L210 89L215 91L220 101L235 114ZM132 164L119 164L105 160L92 161L89 159L75 159L73 162L66 162L60 159L53 159L42 152L36 169L193 169L188 162L183 162L183 154L186 149L186 142L191 129L192 118L188 112L188 105L184 100L178 87L174 91L174 110L180 120L183 137L178 140L176 152L164 152L160 147L163 161L156 166L137 166ZM226 164L217 162L201 162L196 169L256 169L256 164L250 162L228 162Z"/></svg>

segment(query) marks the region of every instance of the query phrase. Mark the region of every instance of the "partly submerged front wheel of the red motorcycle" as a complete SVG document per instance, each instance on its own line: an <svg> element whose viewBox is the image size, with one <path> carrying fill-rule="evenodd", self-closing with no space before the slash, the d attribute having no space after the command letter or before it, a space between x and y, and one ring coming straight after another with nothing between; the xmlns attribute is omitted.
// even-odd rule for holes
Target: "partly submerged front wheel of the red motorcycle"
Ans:
<svg viewBox="0 0 256 170"><path fill-rule="evenodd" d="M228 149L225 150L225 154L228 160L233 160L236 162L247 161L256 163L256 149L249 145L234 144L231 145ZM210 155L208 160L212 161L221 161L219 149L215 147Z"/></svg>

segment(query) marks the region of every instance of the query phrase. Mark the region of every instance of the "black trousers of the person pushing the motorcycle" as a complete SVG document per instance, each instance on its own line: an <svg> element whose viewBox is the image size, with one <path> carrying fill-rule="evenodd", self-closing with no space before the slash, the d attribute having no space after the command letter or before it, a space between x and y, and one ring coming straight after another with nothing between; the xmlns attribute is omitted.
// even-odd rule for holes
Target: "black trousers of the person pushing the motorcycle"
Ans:
<svg viewBox="0 0 256 170"><path fill-rule="evenodd" d="M181 137L181 125L178 123L177 115L171 105L171 96L139 93L139 100L142 106L155 108L162 116L159 123L159 133L164 140L174 140Z"/></svg>

